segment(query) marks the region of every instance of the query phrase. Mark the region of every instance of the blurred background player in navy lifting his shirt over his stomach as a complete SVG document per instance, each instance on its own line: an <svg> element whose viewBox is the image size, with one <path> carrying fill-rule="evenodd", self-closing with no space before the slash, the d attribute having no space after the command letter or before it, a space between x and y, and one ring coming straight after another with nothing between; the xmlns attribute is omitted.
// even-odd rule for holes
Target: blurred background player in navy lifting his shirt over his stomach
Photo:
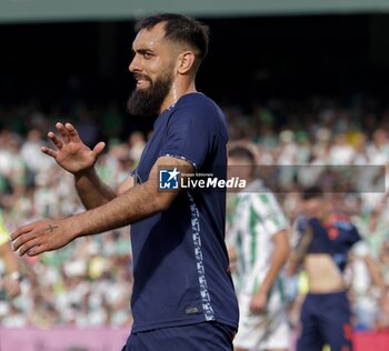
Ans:
<svg viewBox="0 0 389 351"><path fill-rule="evenodd" d="M350 219L332 212L328 194L309 188L302 194L300 234L288 262L288 274L303 262L309 292L302 303L297 350L352 350L351 309L342 273L351 248L361 238ZM366 252L358 249L353 252ZM361 253L363 254L363 253Z"/></svg>

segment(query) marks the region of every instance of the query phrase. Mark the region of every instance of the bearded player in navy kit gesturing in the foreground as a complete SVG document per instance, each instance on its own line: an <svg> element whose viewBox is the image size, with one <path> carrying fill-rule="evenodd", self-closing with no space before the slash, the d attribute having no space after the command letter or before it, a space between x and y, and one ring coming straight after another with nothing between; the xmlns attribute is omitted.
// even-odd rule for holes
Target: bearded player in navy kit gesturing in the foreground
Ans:
<svg viewBox="0 0 389 351"><path fill-rule="evenodd" d="M19 254L37 255L70 241L131 224L133 327L123 351L232 350L238 304L225 244L226 192L159 189L159 169L194 170L226 179L228 132L220 108L196 90L208 28L180 14L138 22L129 70L137 89L131 114L157 113L132 177L117 190L101 182L93 150L76 129L58 123L56 149L42 151L74 176L87 211L41 220L12 233Z"/></svg>

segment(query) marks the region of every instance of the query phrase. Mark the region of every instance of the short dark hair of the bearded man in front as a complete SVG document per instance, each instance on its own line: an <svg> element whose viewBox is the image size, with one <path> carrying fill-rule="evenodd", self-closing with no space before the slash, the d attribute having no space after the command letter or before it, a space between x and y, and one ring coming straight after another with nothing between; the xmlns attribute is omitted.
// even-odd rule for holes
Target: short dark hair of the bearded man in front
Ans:
<svg viewBox="0 0 389 351"><path fill-rule="evenodd" d="M201 61L208 53L209 28L208 26L183 14L158 13L139 20L136 26L136 32L141 29L151 29L156 24L164 22L164 38L176 42L182 42L197 52Z"/></svg>

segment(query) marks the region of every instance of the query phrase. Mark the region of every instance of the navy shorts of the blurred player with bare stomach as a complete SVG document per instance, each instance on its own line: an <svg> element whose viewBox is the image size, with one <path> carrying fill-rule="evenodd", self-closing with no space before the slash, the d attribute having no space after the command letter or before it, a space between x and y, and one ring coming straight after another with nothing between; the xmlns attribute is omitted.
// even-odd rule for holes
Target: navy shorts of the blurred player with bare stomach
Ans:
<svg viewBox="0 0 389 351"><path fill-rule="evenodd" d="M301 308L297 351L352 350L351 312L346 292L308 293Z"/></svg>

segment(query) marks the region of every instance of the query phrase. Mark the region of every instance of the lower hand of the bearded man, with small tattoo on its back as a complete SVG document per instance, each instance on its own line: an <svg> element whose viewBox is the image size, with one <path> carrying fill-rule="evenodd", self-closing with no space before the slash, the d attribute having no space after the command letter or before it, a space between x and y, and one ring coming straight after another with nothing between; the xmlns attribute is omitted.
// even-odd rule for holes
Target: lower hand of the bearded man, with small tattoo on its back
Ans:
<svg viewBox="0 0 389 351"><path fill-rule="evenodd" d="M19 255L37 255L60 249L72 241L70 222L44 219L18 228L12 234L12 248Z"/></svg>

